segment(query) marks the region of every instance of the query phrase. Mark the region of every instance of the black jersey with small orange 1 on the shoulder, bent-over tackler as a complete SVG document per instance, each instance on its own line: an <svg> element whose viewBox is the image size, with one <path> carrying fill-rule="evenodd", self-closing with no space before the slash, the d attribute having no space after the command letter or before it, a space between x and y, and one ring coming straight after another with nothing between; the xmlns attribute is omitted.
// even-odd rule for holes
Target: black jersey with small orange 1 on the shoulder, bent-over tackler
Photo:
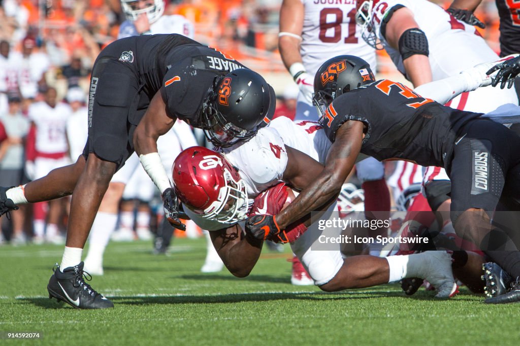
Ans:
<svg viewBox="0 0 520 346"><path fill-rule="evenodd" d="M168 116L200 125L199 111L217 75L245 68L235 59L183 35L161 34L123 38L135 40L137 74L151 98L158 90ZM161 89L162 87L162 89Z"/></svg>

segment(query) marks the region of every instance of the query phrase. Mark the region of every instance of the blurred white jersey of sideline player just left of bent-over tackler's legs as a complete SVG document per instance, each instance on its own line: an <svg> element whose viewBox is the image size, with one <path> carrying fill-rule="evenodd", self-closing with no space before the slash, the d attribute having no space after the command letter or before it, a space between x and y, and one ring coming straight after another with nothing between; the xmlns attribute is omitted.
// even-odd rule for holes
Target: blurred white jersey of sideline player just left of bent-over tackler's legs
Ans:
<svg viewBox="0 0 520 346"><path fill-rule="evenodd" d="M62 102L55 108L43 101L30 106L29 119L36 125L36 151L45 154L67 152L66 128L71 113L70 106Z"/></svg>

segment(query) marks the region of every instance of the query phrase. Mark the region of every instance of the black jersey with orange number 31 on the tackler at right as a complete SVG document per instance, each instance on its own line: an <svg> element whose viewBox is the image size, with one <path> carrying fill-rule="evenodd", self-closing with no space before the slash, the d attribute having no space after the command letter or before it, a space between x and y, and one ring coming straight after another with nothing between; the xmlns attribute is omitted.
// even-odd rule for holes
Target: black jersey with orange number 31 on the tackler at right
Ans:
<svg viewBox="0 0 520 346"><path fill-rule="evenodd" d="M445 167L460 128L481 113L445 107L407 86L382 79L337 97L320 123L331 141L342 124L366 125L361 153Z"/></svg>

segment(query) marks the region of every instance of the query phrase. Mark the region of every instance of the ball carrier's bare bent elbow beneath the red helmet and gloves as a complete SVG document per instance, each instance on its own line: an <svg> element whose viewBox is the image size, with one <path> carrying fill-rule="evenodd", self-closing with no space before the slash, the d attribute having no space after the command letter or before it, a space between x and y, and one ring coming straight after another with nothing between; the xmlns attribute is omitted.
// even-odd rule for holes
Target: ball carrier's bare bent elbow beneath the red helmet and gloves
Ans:
<svg viewBox="0 0 520 346"><path fill-rule="evenodd" d="M210 232L218 256L229 272L237 277L251 273L262 252L263 241L244 235L240 225Z"/></svg>

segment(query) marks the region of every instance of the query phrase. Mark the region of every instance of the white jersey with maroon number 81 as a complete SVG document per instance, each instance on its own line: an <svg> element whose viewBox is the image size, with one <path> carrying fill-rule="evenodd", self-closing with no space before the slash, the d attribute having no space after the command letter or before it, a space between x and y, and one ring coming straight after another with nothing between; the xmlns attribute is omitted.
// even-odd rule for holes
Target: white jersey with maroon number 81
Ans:
<svg viewBox="0 0 520 346"><path fill-rule="evenodd" d="M375 50L363 41L356 25L356 0L302 0L302 3L300 53L310 75L315 75L323 62L343 54L365 59L375 71Z"/></svg>

